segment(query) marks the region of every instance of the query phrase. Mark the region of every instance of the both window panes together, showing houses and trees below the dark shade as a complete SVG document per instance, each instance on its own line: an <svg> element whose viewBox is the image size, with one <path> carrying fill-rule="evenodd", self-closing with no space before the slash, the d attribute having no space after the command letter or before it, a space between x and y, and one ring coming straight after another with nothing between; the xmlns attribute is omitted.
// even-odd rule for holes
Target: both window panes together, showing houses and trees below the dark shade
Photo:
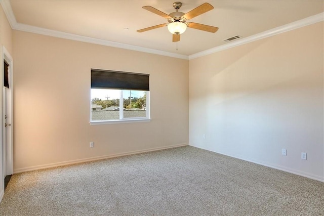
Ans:
<svg viewBox="0 0 324 216"><path fill-rule="evenodd" d="M138 90L91 89L91 120L147 118L147 94Z"/></svg>

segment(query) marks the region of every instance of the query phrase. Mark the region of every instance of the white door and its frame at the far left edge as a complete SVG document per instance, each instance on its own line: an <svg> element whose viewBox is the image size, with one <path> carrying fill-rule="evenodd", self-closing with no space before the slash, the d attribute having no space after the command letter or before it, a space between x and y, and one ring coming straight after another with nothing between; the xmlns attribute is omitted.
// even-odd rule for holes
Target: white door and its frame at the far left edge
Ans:
<svg viewBox="0 0 324 216"><path fill-rule="evenodd" d="M2 55L1 55L1 84L0 84L0 105L2 107L1 109L1 124L0 124L0 131L1 131L1 139L0 139L0 148L2 154L0 154L0 161L1 161L1 167L0 167L0 201L4 195L5 190L5 177L7 175L12 175L14 172L14 165L13 165L13 58L11 57L10 53L7 51L7 49L2 46ZM11 124L11 126L6 129L5 128L5 116L4 116L4 106L6 103L4 103L4 60L9 64L9 89L6 90L6 102L7 102L7 113L8 113L8 120ZM9 131L7 131L9 130ZM9 138L9 142L6 142L5 137L7 134L7 138Z"/></svg>

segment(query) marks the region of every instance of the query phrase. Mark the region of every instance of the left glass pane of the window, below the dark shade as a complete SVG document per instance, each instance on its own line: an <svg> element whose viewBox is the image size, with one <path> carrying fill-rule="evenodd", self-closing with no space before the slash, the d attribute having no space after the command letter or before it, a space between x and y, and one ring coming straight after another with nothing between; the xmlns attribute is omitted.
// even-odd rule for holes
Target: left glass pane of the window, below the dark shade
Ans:
<svg viewBox="0 0 324 216"><path fill-rule="evenodd" d="M119 119L120 90L91 89L91 120Z"/></svg>

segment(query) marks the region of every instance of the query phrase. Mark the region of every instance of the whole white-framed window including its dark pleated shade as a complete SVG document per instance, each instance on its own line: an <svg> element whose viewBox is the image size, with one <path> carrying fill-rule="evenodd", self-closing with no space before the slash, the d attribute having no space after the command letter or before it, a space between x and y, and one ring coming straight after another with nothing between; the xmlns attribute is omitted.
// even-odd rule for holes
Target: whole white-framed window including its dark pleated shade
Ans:
<svg viewBox="0 0 324 216"><path fill-rule="evenodd" d="M91 69L91 123L149 120L149 74Z"/></svg>

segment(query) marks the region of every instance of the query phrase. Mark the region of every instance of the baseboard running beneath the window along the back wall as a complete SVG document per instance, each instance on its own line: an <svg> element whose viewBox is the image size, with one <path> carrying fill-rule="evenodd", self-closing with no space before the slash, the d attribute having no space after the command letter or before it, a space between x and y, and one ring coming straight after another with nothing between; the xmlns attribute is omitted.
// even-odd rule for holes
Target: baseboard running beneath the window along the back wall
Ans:
<svg viewBox="0 0 324 216"><path fill-rule="evenodd" d="M138 150L138 151L125 152L125 153L103 155L103 156L98 156L98 157L89 157L89 158L78 159L78 160L69 160L69 161L63 161L63 162L58 162L58 163L49 163L49 164L43 164L43 165L38 165L38 166L29 166L29 167L15 169L14 174L18 174L20 172L38 170L38 169L46 169L46 168L52 168L52 167L57 167L57 166L71 165L71 164L75 164L75 163L84 163L84 162L103 160L103 159L108 159L108 158L113 158L113 157L120 157L120 156L132 155L132 154L139 154L139 153L145 153L145 152L151 152L151 151L177 148L177 147L182 147L182 146L187 146L187 145L188 144L177 144L177 145L172 145L172 146L163 146L163 147L150 148L150 149L144 149L144 150Z"/></svg>

